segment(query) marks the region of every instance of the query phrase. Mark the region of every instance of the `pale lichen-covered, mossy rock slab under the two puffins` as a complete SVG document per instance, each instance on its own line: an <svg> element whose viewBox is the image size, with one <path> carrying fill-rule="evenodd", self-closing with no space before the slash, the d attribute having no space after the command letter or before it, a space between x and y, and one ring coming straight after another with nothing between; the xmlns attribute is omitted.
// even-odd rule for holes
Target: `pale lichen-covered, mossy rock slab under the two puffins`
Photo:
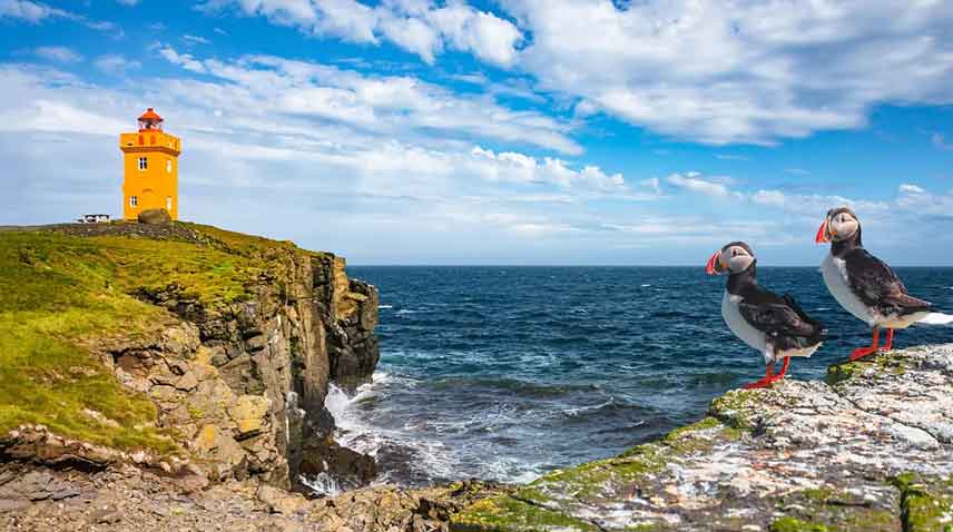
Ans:
<svg viewBox="0 0 953 532"><path fill-rule="evenodd" d="M953 344L733 391L708 417L453 518L458 531L953 531Z"/></svg>

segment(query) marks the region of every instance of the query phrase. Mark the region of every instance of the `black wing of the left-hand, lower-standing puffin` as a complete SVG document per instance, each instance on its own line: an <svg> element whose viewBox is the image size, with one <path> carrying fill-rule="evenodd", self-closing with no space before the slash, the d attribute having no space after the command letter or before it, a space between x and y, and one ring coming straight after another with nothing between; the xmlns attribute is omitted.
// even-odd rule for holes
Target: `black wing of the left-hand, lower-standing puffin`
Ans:
<svg viewBox="0 0 953 532"><path fill-rule="evenodd" d="M824 326L810 318L789 295L780 297L757 287L743 295L738 311L753 327L785 348L804 347L823 339Z"/></svg>

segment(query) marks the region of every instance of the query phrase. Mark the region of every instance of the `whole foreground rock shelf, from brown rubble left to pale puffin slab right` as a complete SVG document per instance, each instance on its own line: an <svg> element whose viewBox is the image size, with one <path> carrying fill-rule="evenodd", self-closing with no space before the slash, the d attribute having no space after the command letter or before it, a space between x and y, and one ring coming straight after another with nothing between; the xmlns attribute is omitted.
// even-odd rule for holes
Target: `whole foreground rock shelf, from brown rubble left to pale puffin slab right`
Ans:
<svg viewBox="0 0 953 532"><path fill-rule="evenodd" d="M953 344L733 391L704 420L525 485L372 486L307 500L124 466L0 467L2 530L322 532L953 530Z"/></svg>

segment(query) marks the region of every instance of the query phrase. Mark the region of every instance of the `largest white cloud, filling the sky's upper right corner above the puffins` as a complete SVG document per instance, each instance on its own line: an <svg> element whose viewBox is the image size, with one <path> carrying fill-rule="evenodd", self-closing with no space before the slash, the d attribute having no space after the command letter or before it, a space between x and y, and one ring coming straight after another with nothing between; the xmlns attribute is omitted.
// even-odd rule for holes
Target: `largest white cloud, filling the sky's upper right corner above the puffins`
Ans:
<svg viewBox="0 0 953 532"><path fill-rule="evenodd" d="M770 144L862 127L877 104L953 102L950 2L502 4L542 88L682 139Z"/></svg>

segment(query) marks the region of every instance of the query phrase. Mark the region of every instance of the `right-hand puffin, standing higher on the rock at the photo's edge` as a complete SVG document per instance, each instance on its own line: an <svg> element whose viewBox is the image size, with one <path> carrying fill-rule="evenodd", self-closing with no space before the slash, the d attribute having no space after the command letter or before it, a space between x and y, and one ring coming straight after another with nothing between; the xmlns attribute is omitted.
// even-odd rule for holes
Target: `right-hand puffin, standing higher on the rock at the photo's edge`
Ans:
<svg viewBox="0 0 953 532"><path fill-rule="evenodd" d="M847 207L827 211L817 229L816 244L831 244L821 263L824 284L834 299L873 329L873 342L851 353L857 361L881 351L881 329L886 328L884 351L893 348L894 331L915 323L947 325L953 316L931 312L932 305L913 297L886 263L864 249L861 220Z"/></svg>

